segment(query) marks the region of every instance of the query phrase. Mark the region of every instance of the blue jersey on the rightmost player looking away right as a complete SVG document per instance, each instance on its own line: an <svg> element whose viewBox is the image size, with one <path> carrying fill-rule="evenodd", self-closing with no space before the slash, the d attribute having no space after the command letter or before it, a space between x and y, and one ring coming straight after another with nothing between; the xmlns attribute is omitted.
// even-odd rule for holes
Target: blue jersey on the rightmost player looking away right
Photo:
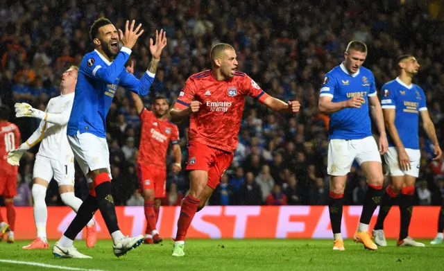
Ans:
<svg viewBox="0 0 444 271"><path fill-rule="evenodd" d="M382 109L395 110L395 127L404 148L419 150L419 112L427 110L424 91L417 85L405 85L399 78L387 82L381 89ZM388 146L393 140L387 131Z"/></svg>

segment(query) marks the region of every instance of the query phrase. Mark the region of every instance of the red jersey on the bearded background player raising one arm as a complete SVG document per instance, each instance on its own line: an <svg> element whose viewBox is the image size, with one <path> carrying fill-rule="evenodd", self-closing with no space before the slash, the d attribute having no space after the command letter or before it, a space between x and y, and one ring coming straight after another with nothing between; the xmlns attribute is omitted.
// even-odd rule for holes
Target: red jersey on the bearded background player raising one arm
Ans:
<svg viewBox="0 0 444 271"><path fill-rule="evenodd" d="M139 117L142 120L142 132L137 162L156 168L167 168L169 143L179 143L178 127L168 120L157 119L153 112L146 108Z"/></svg>

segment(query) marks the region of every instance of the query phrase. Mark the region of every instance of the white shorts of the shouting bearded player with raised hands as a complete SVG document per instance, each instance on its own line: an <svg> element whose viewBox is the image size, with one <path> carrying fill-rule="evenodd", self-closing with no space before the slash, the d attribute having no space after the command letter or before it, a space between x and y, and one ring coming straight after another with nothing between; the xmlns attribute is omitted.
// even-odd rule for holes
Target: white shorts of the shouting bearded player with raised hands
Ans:
<svg viewBox="0 0 444 271"><path fill-rule="evenodd" d="M108 143L105 138L97 137L89 132L83 134L77 132L75 136L68 135L68 141L78 166L80 166L85 176L89 171L107 168L111 178L110 150L108 150ZM88 183L92 182L89 177L87 177L87 180Z"/></svg>

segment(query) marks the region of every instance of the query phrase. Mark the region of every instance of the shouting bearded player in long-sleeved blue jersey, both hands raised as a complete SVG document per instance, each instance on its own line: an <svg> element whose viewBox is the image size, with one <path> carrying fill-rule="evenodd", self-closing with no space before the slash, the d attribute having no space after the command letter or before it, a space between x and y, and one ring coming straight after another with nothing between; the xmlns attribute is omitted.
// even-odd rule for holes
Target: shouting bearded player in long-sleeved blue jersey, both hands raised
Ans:
<svg viewBox="0 0 444 271"><path fill-rule="evenodd" d="M124 237L117 224L111 193L110 152L105 131L105 119L117 87L120 85L139 95L146 95L154 80L162 49L167 45L163 30L160 33L156 31L155 44L150 39L153 58L140 80L124 67L131 49L143 32L140 24L135 28L135 21L130 26L129 21L126 21L125 33L119 30L118 34L114 25L105 18L94 21L89 31L95 50L87 53L80 64L67 134L74 157L87 176L90 193L65 234L53 246L54 256L90 258L80 254L74 248L73 241L97 209L112 236L116 256L126 254L144 240L142 235ZM120 50L119 41L123 44Z"/></svg>

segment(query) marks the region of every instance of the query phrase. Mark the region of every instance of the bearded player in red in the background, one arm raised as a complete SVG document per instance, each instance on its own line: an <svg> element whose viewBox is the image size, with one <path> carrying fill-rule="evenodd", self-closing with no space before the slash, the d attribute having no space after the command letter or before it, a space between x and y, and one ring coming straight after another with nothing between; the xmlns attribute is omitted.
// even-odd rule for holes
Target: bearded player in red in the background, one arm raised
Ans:
<svg viewBox="0 0 444 271"><path fill-rule="evenodd" d="M127 71L134 72L133 63ZM146 231L144 243L160 243L162 237L155 228L159 218L160 204L167 193L167 151L172 145L175 163L171 171L181 169L182 154L179 145L178 127L167 119L169 103L164 96L157 96L151 107L146 110L139 95L131 93L134 106L142 121L139 157L137 157L137 175L145 198Z"/></svg>

